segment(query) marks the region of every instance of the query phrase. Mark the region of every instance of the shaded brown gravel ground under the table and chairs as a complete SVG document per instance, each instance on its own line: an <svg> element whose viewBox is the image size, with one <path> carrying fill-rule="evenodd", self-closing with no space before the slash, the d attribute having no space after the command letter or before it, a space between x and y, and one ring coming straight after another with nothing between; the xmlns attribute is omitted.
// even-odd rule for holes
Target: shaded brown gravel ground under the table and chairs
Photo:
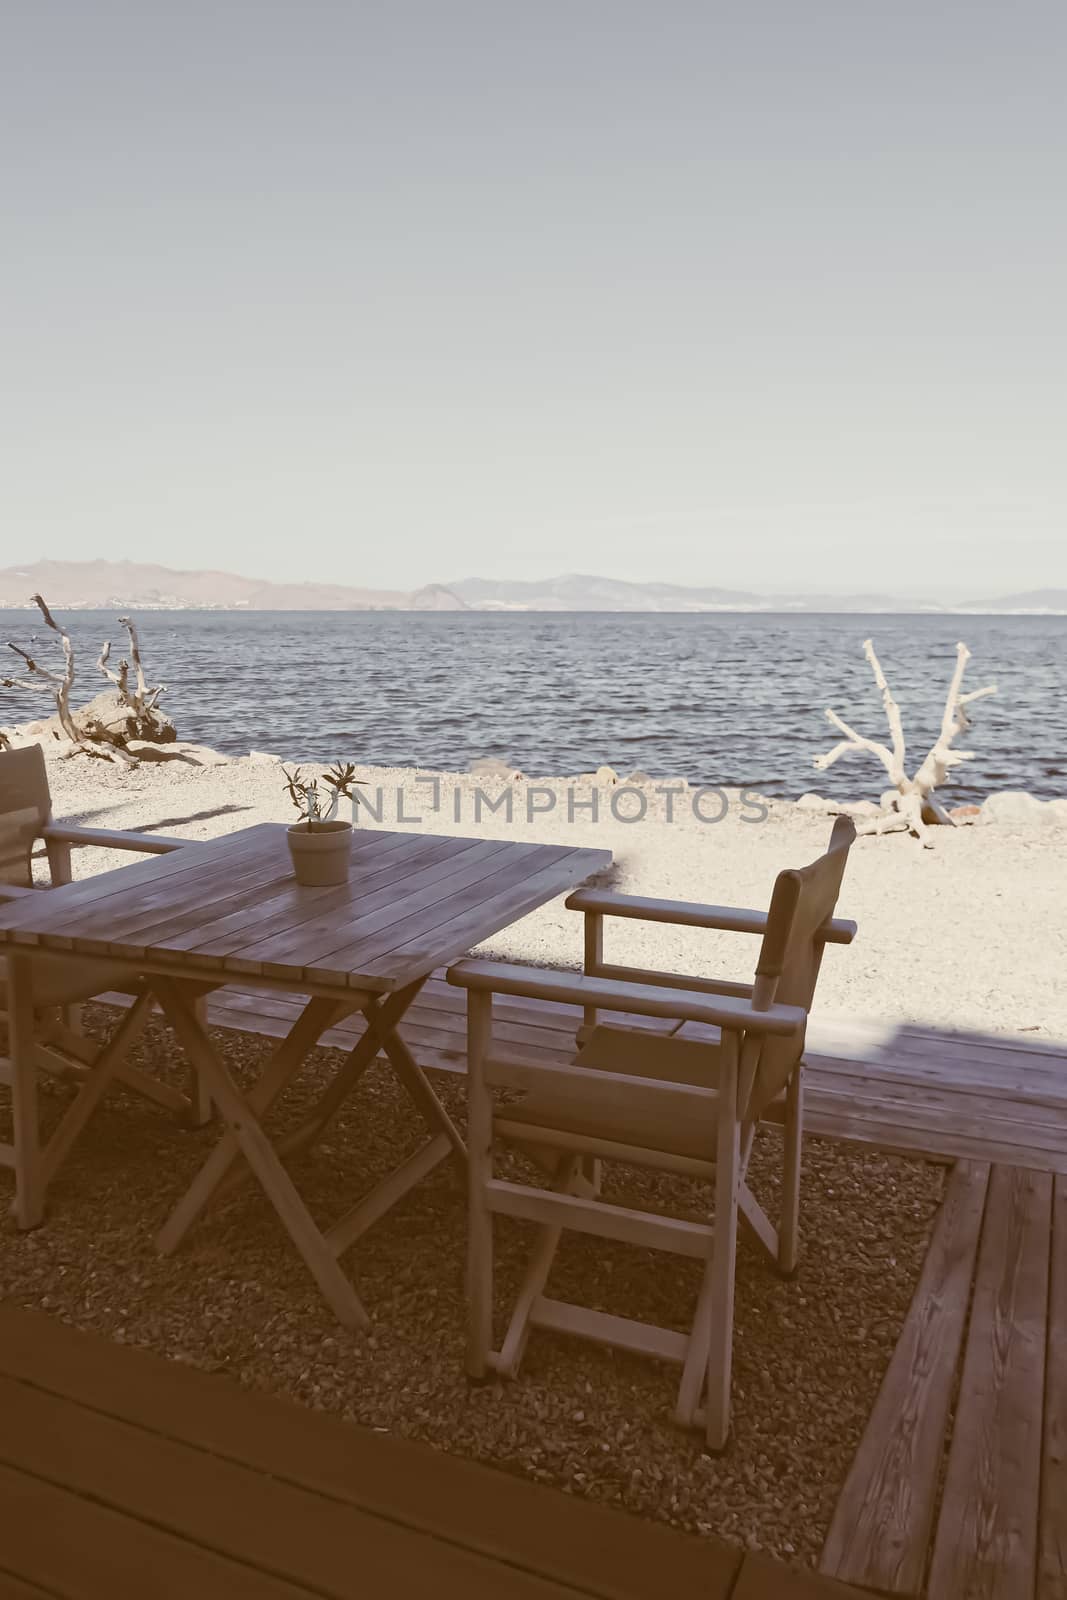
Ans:
<svg viewBox="0 0 1067 1600"><path fill-rule="evenodd" d="M90 1029L112 1022L88 1008ZM269 1045L216 1034L248 1083ZM170 1034L149 1027L134 1058L181 1070ZM299 1117L338 1061L317 1051L278 1112ZM46 1123L69 1091L45 1085ZM462 1083L442 1096L464 1115ZM0 1112L0 1138L10 1136ZM296 1171L326 1221L419 1142L419 1125L381 1064ZM944 1168L811 1139L805 1250L782 1282L742 1238L734 1334L734 1435L712 1459L675 1429L675 1370L579 1341L534 1334L514 1384L470 1386L462 1371L464 1211L438 1170L346 1258L374 1318L370 1336L338 1326L258 1190L234 1195L162 1261L152 1237L214 1134L181 1130L118 1093L90 1123L51 1192L46 1226L0 1230L0 1294L78 1328L157 1350L248 1387L288 1394L408 1438L490 1462L573 1494L614 1502L694 1533L811 1563L910 1302ZM755 1192L774 1214L776 1136L761 1134ZM625 1174L664 1205L707 1206L707 1190ZM6 1179L6 1174L5 1174ZM504 1310L530 1238L501 1224ZM550 1291L685 1328L694 1264L568 1240Z"/></svg>

